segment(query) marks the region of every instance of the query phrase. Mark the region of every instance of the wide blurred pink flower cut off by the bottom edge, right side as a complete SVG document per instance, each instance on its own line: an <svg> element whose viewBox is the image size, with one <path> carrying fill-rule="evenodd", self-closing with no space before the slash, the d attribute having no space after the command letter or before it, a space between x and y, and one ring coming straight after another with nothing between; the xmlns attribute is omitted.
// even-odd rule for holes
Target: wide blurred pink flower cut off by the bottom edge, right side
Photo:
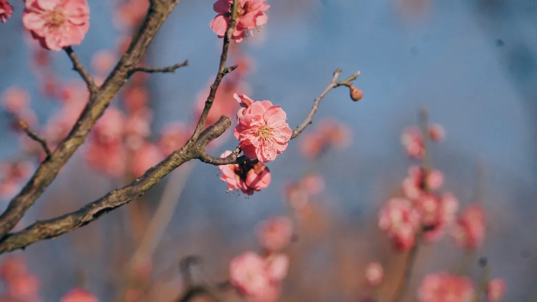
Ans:
<svg viewBox="0 0 537 302"><path fill-rule="evenodd" d="M420 302L473 302L474 297L470 278L445 272L427 275L418 289Z"/></svg>

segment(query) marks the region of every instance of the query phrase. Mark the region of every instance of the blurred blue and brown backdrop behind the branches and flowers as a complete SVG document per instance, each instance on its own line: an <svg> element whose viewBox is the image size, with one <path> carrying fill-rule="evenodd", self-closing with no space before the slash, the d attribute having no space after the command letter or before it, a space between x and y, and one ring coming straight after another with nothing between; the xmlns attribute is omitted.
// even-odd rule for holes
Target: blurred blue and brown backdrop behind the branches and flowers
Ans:
<svg viewBox="0 0 537 302"><path fill-rule="evenodd" d="M170 301L184 291L178 263L188 255L203 259L200 280L224 281L231 258L258 249L255 226L260 220L293 216L284 189L311 170L324 178L325 190L311 201L307 215L295 218L298 240L286 250L291 267L281 300L357 301L364 296L364 269L370 261L384 265L384 290L393 292L404 260L378 230L378 211L397 192L412 164L400 135L405 127L417 124L420 107L426 107L431 121L446 130L446 142L432 148L433 164L445 173L445 189L455 193L462 207L473 201L476 167L481 163L486 170L483 206L489 224L485 244L476 254L488 258L493 277L505 279L506 301L536 300L531 285L537 268L537 3L267 3L269 23L240 48L251 62L244 79L248 95L281 105L289 125L295 127L336 68L343 69L342 77L360 70L355 85L364 91L364 98L354 103L348 89L331 91L306 130L315 131L323 119L337 120L352 132L350 146L308 160L301 156L299 137L267 165L272 172L270 186L248 198L227 193L216 167L191 162L140 200L61 238L10 254L26 257L40 279L42 300L57 301L81 279L101 300L115 300L166 181L168 190L176 190L169 198L178 203L152 253L154 293L148 293L147 301ZM23 3L12 4L13 17L0 25L0 92L13 85L30 92L31 107L43 125L61 105L43 97L42 83L29 63L32 48L21 34ZM118 20L121 1L92 0L89 5L90 30L82 45L74 47L87 67L99 51L117 49L126 28ZM216 15L212 5L205 0L180 2L149 49L150 66L190 62L174 74L148 77L155 137L171 121L192 119L195 101L214 79L222 40L208 26ZM61 81L78 80L66 54L49 55ZM0 115L0 122L0 160L10 160L20 150L19 136L10 130L6 115ZM229 139L212 153L216 156L236 145ZM91 169L83 148L21 226L76 210L124 183ZM405 301L416 300L416 288L426 274L452 270L462 258L449 238L420 249ZM478 280L477 261L471 268L471 276Z"/></svg>

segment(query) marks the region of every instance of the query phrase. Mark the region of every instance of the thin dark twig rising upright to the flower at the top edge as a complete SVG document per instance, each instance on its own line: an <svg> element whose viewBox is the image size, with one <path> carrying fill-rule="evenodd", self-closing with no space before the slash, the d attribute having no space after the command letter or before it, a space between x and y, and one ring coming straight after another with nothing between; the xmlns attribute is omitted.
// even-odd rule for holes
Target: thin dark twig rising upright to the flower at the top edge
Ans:
<svg viewBox="0 0 537 302"><path fill-rule="evenodd" d="M236 66L226 68L226 60L228 59L229 44L231 42L231 36L233 35L233 32L235 31L235 23L237 19L237 6L238 6L238 1L233 0L233 4L231 5L231 17L229 20L228 28L226 30L226 35L224 35L224 43L222 46L222 54L220 55L218 73L216 74L216 77L214 78L214 82L211 85L211 90L209 91L209 96L207 97L207 100L205 101L204 109L201 112L201 116L198 120L198 123L196 124L194 132L192 133L192 137L189 140L191 142L197 140L198 136L201 133L201 130L203 130L209 111L211 110L211 107L213 106L214 98L216 96L216 90L218 90L218 87L220 86L222 79L224 78L226 74L230 73L235 68L237 68Z"/></svg>

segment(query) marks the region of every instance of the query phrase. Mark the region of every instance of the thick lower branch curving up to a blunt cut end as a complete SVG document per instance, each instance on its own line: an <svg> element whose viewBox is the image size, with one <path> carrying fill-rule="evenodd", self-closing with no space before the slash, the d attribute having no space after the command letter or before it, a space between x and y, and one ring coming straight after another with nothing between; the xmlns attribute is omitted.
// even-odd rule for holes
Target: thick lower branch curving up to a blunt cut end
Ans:
<svg viewBox="0 0 537 302"><path fill-rule="evenodd" d="M222 135L230 125L231 120L223 116L214 125L202 132L200 139L194 145L185 145L183 148L173 152L155 167L147 170L143 176L123 188L111 191L95 200L95 202L86 204L77 211L61 215L60 217L35 222L35 224L26 227L22 231L5 235L0 239L0 254L6 251L25 248L34 242L55 238L71 232L98 219L105 213L142 196L171 171L183 163L198 157L198 152L204 150L209 142Z"/></svg>

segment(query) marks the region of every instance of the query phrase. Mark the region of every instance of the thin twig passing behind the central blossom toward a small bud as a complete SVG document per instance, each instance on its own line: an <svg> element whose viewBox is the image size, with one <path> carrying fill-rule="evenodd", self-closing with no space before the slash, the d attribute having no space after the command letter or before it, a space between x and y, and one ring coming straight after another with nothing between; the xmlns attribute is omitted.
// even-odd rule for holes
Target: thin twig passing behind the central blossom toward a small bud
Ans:
<svg viewBox="0 0 537 302"><path fill-rule="evenodd" d="M319 108L319 103L321 103L321 100L324 98L324 96L326 96L326 94L328 94L330 90L339 86L346 86L350 88L352 81L356 80L356 78L360 75L360 71L357 71L356 73L347 77L343 81L338 81L340 74L341 74L341 69L338 68L336 69L336 71L334 71L333 76L332 76L332 81L330 81L330 84L328 84L328 86L323 90L321 95L319 95L314 100L313 106L311 106L311 110L309 111L308 116L306 117L306 119L304 119L302 124L296 127L295 130L293 130L293 135L291 136L291 139L296 138L296 136L298 136L302 131L304 131L304 129L306 129L306 127L309 124L311 124L311 121L313 120L313 117L315 116L315 113L317 112L317 109ZM207 154L204 150L200 152L198 159L205 163L214 164L215 166L221 166L224 164L243 163L244 161L249 160L249 159L246 159L244 155L238 156L240 152L241 152L241 149L237 147L230 155L226 157L214 157L212 155ZM256 163L257 159L253 159L249 161L251 161L252 163Z"/></svg>

